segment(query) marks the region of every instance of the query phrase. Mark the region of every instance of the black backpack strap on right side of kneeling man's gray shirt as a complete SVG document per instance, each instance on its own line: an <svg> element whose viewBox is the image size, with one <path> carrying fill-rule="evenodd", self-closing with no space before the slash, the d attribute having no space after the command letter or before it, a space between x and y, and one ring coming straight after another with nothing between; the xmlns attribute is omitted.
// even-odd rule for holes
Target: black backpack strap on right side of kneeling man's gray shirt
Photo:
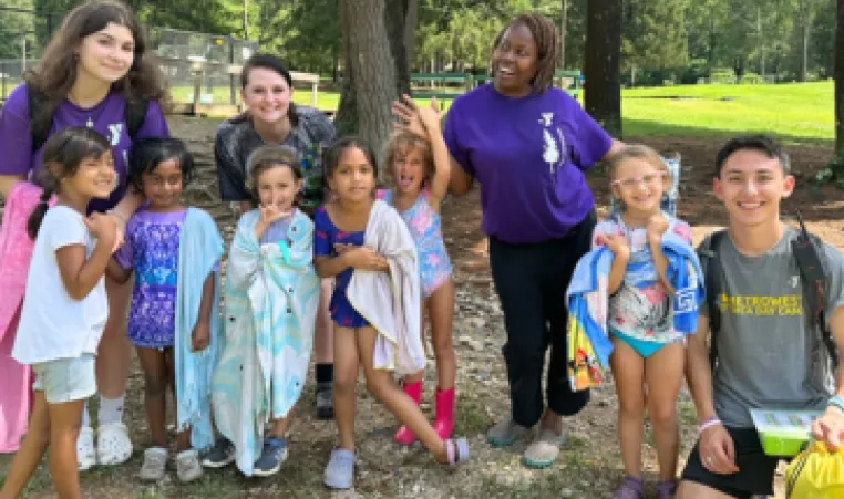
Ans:
<svg viewBox="0 0 844 499"><path fill-rule="evenodd" d="M800 279L803 283L803 300L809 311L809 321L821 335L830 357L837 361L837 347L832 339L832 333L826 328L826 282L828 276L828 262L824 243L821 238L810 233L803 223L803 217L797 211L800 233L792 241L792 252L800 270Z"/></svg>

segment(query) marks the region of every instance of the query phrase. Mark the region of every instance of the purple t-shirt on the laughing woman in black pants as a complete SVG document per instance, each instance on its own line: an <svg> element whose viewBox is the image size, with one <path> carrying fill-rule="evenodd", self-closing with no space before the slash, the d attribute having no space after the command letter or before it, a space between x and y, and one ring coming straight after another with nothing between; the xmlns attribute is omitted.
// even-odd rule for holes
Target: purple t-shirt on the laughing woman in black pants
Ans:
<svg viewBox="0 0 844 499"><path fill-rule="evenodd" d="M481 184L483 230L510 243L564 237L595 201L584 171L613 138L559 89L521 98L482 85L454 101L445 143Z"/></svg>

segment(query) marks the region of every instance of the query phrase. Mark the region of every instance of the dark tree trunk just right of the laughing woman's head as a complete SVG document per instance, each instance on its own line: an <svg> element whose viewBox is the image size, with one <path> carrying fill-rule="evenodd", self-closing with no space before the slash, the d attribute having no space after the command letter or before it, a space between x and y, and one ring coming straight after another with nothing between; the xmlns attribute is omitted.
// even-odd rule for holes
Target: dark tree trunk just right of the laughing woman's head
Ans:
<svg viewBox="0 0 844 499"><path fill-rule="evenodd" d="M586 10L585 103L610 135L621 135L621 0L590 0Z"/></svg>

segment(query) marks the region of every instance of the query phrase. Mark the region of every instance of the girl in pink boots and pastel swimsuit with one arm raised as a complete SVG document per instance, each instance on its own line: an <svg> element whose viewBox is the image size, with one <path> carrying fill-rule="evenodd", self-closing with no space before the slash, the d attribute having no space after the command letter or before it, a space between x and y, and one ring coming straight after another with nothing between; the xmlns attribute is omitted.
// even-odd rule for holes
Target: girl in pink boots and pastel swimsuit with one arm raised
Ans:
<svg viewBox="0 0 844 499"><path fill-rule="evenodd" d="M408 100L411 105L412 101ZM436 101L419 110L424 135L398 132L387 145L387 163L394 187L379 193L401 215L413 236L419 252L420 285L422 288L422 344L424 313L431 321L431 339L436 358L436 392L434 393L434 429L440 438L449 438L454 429L454 378L457 366L452 344L454 284L451 261L443 243L440 225L440 204L449 189L451 164L440 131ZM409 375L402 382L404 392L419 404L422 398L424 371ZM401 426L393 439L411 445L416 437Z"/></svg>

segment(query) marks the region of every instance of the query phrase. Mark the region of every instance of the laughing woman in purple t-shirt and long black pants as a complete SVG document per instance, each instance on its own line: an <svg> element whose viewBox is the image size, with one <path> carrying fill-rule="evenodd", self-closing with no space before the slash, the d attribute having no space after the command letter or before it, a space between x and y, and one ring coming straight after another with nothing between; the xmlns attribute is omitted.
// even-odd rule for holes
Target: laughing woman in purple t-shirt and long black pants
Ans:
<svg viewBox="0 0 844 499"><path fill-rule="evenodd" d="M536 468L559 454L562 416L577 414L589 399L568 383L566 289L596 221L585 170L620 147L577 101L553 87L558 48L550 20L513 19L494 43L492 84L457 97L444 128L452 191L463 195L475 179L481 184L483 230L507 331L512 414L487 436L507 446L538 423L523 459ZM403 126L418 127L412 107L397 104L394 112Z"/></svg>

